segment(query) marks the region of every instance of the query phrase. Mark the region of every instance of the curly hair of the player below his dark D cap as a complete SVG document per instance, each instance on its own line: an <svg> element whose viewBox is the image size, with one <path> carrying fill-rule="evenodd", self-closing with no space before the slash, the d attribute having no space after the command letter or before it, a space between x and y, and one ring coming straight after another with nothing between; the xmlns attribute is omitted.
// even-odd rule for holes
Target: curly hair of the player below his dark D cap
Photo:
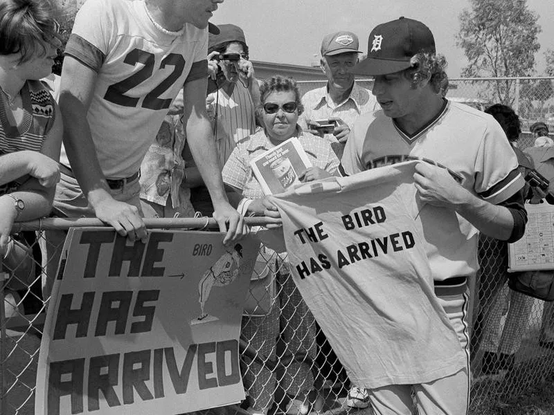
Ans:
<svg viewBox="0 0 554 415"><path fill-rule="evenodd" d="M448 91L447 62L444 55L420 52L410 59L410 68L404 71L411 81L412 88L429 79L429 84L438 95L445 96Z"/></svg>

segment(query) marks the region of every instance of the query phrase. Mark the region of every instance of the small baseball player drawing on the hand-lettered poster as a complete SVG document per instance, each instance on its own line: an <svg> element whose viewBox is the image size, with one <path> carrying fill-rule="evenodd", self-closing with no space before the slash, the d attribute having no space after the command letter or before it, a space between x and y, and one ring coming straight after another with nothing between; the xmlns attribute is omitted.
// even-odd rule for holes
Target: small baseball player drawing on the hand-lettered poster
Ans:
<svg viewBox="0 0 554 415"><path fill-rule="evenodd" d="M200 303L201 309L198 320L203 320L207 316L207 314L204 313L204 306L208 301L212 287L224 287L237 279L241 258L242 246L237 243L233 250L227 250L220 259L217 259L215 264L208 268L204 275L202 275L198 283L198 302Z"/></svg>

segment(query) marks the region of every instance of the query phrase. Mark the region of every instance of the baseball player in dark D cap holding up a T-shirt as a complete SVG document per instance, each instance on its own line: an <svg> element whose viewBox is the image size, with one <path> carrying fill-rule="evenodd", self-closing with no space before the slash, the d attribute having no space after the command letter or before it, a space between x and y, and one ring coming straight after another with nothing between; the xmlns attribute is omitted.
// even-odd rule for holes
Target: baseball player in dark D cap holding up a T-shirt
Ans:
<svg viewBox="0 0 554 415"><path fill-rule="evenodd" d="M400 17L371 31L368 57L353 68L353 73L373 76L373 95L382 111L355 122L339 169L352 175L406 157L422 160L413 176L422 246L434 282L431 289L442 306L438 310L445 312L443 318L459 341L459 348L450 351L452 358L438 366L426 351L412 351L420 353L420 364L410 365L409 372L402 356L391 360L386 373L368 368L368 376L390 382L368 389L377 415L410 414L411 391L422 413L467 414L470 354L465 316L468 283L479 268L478 235L513 242L525 230L525 182L514 151L492 116L445 98L445 67L431 30ZM440 215L454 216L459 228L440 221ZM436 342L447 347L441 339Z"/></svg>

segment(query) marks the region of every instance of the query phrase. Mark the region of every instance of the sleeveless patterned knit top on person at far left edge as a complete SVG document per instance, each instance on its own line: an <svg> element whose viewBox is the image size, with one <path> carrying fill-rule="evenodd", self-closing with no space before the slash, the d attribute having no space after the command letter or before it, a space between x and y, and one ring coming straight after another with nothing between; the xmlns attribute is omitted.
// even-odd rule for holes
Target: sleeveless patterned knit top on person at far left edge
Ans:
<svg viewBox="0 0 554 415"><path fill-rule="evenodd" d="M54 124L54 100L41 82L27 81L21 89L21 98L24 114L19 125L10 122L9 110L0 99L0 154L22 150L40 151ZM7 183L0 192L15 186L17 183Z"/></svg>

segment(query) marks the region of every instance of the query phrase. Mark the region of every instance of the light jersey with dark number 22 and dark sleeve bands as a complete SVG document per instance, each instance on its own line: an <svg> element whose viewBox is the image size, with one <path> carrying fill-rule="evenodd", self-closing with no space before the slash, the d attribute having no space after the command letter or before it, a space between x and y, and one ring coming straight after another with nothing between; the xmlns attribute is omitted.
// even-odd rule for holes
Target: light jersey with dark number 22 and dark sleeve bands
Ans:
<svg viewBox="0 0 554 415"><path fill-rule="evenodd" d="M65 54L98 74L87 120L106 177L139 170L179 89L207 77L207 51L207 28L165 30L145 0L83 4Z"/></svg>

